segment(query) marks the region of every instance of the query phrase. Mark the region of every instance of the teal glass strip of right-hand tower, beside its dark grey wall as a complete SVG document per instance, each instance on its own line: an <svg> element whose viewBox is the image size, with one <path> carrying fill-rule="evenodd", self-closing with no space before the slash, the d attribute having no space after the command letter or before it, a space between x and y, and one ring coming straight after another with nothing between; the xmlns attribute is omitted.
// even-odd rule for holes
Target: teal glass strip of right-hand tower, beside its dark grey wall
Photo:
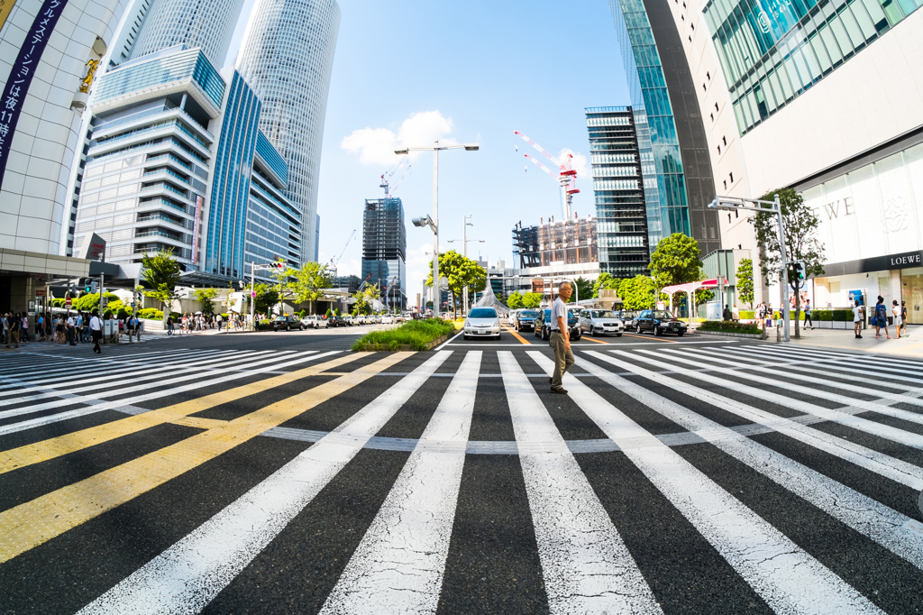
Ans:
<svg viewBox="0 0 923 615"><path fill-rule="evenodd" d="M677 127L644 3L609 0L609 8L629 82L648 241L650 246L656 246L666 235L692 235Z"/></svg>

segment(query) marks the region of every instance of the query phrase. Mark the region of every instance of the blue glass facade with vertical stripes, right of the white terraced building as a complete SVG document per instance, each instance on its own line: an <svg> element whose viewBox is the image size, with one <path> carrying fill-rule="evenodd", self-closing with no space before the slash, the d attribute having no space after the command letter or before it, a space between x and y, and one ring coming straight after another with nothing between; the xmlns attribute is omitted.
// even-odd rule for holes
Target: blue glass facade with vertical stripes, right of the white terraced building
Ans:
<svg viewBox="0 0 923 615"><path fill-rule="evenodd" d="M259 99L234 71L215 150L205 271L239 278L244 267L244 228L250 174L257 143Z"/></svg>

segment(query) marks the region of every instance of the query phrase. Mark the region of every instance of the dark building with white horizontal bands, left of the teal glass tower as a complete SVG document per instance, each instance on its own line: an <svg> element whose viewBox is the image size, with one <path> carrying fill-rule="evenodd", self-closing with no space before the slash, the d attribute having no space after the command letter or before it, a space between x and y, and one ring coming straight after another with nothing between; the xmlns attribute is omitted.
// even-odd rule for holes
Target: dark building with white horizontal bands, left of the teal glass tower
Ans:
<svg viewBox="0 0 923 615"><path fill-rule="evenodd" d="M645 274L651 261L634 120L631 107L586 109L599 271L617 278Z"/></svg>

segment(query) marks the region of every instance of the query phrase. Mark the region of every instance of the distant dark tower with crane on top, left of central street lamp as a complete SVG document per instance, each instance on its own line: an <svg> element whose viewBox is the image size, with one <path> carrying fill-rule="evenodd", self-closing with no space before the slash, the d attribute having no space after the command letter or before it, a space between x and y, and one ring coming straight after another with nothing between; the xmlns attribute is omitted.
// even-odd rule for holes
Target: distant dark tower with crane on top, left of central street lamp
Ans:
<svg viewBox="0 0 923 615"><path fill-rule="evenodd" d="M389 307L405 305L407 229L401 199L366 199L362 216L362 278L378 284Z"/></svg>

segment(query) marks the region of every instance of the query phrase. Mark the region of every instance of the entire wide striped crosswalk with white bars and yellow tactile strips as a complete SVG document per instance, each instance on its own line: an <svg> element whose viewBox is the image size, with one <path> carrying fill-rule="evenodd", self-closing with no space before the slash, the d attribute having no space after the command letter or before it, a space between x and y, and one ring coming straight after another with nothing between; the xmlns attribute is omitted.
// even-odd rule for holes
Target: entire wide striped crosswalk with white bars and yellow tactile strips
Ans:
<svg viewBox="0 0 923 615"><path fill-rule="evenodd" d="M923 362L762 344L0 361L0 610L923 609Z"/></svg>

